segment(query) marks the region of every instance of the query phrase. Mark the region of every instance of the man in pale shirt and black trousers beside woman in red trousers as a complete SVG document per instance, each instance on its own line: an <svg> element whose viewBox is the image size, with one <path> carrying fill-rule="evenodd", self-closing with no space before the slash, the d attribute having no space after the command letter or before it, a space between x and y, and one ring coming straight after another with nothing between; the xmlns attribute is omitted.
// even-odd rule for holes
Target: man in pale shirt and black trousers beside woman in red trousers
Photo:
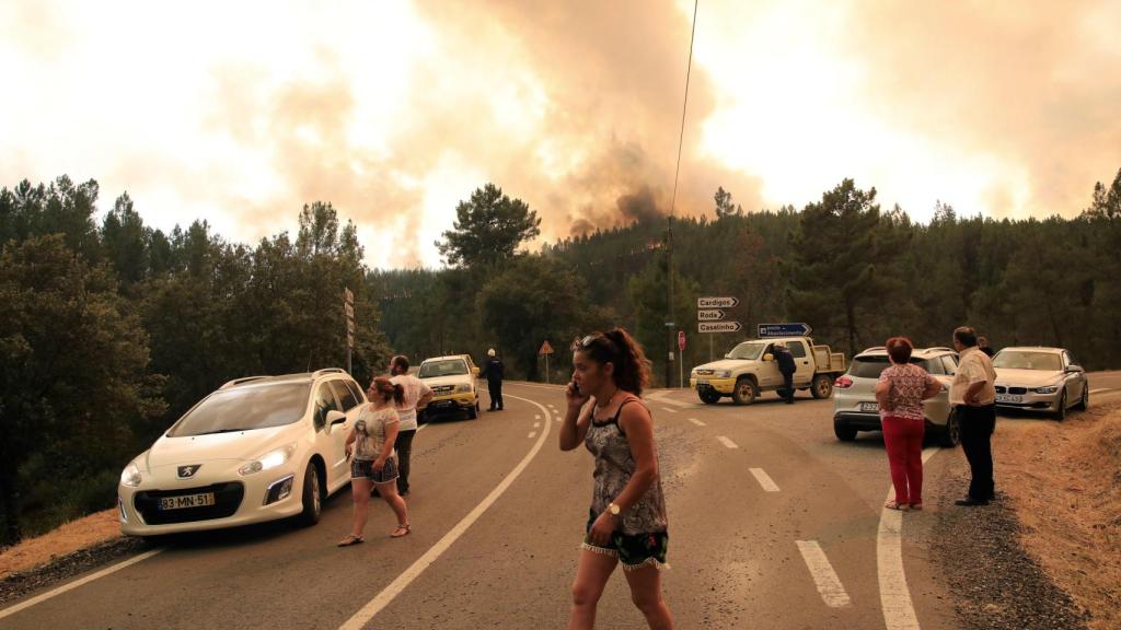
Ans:
<svg viewBox="0 0 1121 630"><path fill-rule="evenodd" d="M973 328L954 331L954 350L961 356L949 386L949 404L962 427L962 452L970 462L970 492L955 504L986 506L995 498L992 479L992 433L997 428L997 372L992 360L978 348Z"/></svg>

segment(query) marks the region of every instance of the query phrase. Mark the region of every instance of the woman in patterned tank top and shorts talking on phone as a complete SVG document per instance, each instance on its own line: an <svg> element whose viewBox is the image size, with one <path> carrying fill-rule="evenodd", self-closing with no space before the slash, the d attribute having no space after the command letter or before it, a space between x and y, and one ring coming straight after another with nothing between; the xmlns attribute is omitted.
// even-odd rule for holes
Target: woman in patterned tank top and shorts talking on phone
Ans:
<svg viewBox="0 0 1121 630"><path fill-rule="evenodd" d="M648 380L649 362L622 328L592 334L575 344L560 450L572 451L583 443L595 456L595 484L573 584L569 630L595 626L596 604L620 563L631 600L647 624L658 630L674 628L659 573L667 567L666 500L654 419L639 398Z"/></svg>

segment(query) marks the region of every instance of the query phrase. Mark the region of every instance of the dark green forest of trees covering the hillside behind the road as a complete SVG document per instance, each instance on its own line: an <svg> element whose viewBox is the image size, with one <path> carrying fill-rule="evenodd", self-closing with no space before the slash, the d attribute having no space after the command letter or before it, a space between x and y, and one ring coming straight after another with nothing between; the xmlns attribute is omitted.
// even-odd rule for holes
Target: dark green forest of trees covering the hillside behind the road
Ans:
<svg viewBox="0 0 1121 630"><path fill-rule="evenodd" d="M456 209L438 270L368 269L355 226L326 202L293 212L294 239L248 245L205 222L147 226L127 194L102 215L99 193L65 176L0 189L0 544L111 507L129 458L226 380L345 365L343 287L360 382L391 352L487 348L510 376L544 380L545 340L558 380L569 340L615 325L661 382L667 316L688 334L686 371L782 321L850 354L893 334L947 345L970 323L997 348L1062 345L1087 369L1121 365L1121 170L1072 220L938 204L915 223L844 180L776 212L744 212L721 188L712 216L674 220L671 239L661 220L534 253L522 248L536 212L488 184ZM730 318L744 333L696 334L706 295L738 297Z"/></svg>

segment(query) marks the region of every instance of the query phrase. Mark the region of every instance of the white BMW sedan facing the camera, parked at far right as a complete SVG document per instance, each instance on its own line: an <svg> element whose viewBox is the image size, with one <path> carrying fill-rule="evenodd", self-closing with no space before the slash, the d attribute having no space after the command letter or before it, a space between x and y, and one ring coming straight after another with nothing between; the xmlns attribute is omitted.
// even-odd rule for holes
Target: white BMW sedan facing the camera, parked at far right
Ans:
<svg viewBox="0 0 1121 630"><path fill-rule="evenodd" d="M992 358L997 407L1043 411L1058 420L1090 406L1086 372L1062 348L1006 348Z"/></svg>

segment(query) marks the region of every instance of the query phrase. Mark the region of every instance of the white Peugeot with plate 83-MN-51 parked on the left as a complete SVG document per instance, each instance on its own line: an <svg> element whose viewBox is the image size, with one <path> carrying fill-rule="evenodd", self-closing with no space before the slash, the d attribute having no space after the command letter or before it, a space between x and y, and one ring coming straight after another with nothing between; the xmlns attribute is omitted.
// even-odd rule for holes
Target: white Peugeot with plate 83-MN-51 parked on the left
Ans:
<svg viewBox="0 0 1121 630"><path fill-rule="evenodd" d="M156 536L299 517L350 482L365 395L343 370L248 377L202 399L121 473L121 532Z"/></svg>

